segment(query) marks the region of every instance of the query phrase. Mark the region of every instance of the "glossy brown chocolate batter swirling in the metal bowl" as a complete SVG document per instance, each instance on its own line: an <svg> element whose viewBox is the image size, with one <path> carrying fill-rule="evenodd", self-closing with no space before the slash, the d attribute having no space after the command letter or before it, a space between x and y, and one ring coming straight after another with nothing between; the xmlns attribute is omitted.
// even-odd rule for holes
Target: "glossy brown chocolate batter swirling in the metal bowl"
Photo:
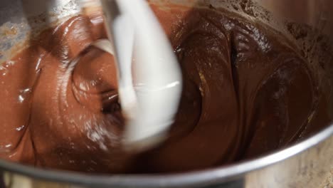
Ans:
<svg viewBox="0 0 333 188"><path fill-rule="evenodd" d="M166 142L122 150L115 63L90 46L106 38L94 14L43 32L2 64L0 157L83 172L183 172L258 157L327 125L312 70L280 33L225 11L154 11L184 76Z"/></svg>

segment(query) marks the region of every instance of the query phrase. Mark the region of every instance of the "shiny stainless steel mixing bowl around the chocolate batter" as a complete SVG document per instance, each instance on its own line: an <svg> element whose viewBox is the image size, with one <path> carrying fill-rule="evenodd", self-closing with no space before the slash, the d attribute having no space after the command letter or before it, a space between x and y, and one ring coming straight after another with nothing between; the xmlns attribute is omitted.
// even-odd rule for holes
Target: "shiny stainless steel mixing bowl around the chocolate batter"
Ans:
<svg viewBox="0 0 333 188"><path fill-rule="evenodd" d="M308 58L314 64L319 61L316 55L319 44L311 36L323 33L333 45L333 1L330 0L152 0L152 3L223 7L254 21L263 21L285 33L300 48L310 48L312 53ZM28 45L25 41L41 29L80 11L75 0L0 1L0 63L14 56L14 49ZM291 22L311 26L314 33L308 38L297 38L297 30L288 28L287 23ZM4 31L14 34L1 35ZM332 61L331 54L333 57L329 51L327 61ZM333 106L330 108L333 113ZM4 160L0 160L0 171L3 179L0 187L333 187L332 182L324 182L329 172L333 172L333 125L273 154L200 172L90 175L36 169Z"/></svg>

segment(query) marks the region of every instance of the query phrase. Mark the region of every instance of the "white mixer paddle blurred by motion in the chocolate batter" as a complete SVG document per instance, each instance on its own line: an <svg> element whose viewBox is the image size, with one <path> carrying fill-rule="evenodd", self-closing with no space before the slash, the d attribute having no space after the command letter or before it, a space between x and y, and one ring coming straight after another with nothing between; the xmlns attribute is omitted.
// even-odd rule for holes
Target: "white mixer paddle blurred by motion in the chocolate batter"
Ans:
<svg viewBox="0 0 333 188"><path fill-rule="evenodd" d="M101 3L109 40L93 46L111 53L117 62L125 149L146 150L164 140L174 121L181 95L179 64L146 1Z"/></svg>

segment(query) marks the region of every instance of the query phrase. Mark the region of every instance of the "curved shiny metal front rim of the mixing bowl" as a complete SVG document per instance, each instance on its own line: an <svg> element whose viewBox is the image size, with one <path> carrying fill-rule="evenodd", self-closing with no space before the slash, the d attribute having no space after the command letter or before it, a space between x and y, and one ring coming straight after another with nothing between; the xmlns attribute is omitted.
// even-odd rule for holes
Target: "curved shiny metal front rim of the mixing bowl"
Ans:
<svg viewBox="0 0 333 188"><path fill-rule="evenodd" d="M327 140L331 136L333 136L333 125L307 140L278 150L270 155L223 167L178 174L83 174L80 172L35 168L5 160L0 160L0 169L51 182L118 187L181 187L212 182L221 183L242 177L246 172L287 160L319 144L319 142Z"/></svg>

